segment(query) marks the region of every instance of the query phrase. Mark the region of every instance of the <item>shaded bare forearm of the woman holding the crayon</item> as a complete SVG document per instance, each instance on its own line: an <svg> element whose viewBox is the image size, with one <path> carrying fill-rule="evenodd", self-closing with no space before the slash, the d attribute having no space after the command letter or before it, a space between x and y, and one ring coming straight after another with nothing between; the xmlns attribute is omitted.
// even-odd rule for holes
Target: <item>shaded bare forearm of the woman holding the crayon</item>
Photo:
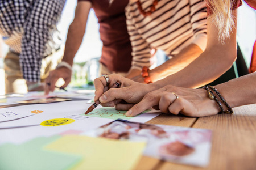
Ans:
<svg viewBox="0 0 256 170"><path fill-rule="evenodd" d="M201 87L224 74L232 66L235 59L236 50L229 52L225 49L220 50L216 46L206 50L183 70L163 79L162 83L177 87Z"/></svg>

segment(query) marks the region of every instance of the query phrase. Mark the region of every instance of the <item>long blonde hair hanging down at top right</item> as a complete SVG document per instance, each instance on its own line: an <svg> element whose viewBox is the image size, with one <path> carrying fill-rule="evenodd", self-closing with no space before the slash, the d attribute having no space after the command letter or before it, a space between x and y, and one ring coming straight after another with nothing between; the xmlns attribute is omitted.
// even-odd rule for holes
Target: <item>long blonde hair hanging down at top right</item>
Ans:
<svg viewBox="0 0 256 170"><path fill-rule="evenodd" d="M236 0L205 0L208 7L212 11L213 23L218 28L218 39L224 43L228 39L232 28L234 27L234 18L232 15L233 1Z"/></svg>

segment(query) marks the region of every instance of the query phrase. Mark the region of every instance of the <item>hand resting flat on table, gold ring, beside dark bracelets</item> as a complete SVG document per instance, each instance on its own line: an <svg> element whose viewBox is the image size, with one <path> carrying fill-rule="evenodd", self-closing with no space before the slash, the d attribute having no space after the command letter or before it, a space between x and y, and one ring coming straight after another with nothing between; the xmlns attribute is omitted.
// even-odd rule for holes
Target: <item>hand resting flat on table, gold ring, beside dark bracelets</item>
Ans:
<svg viewBox="0 0 256 170"><path fill-rule="evenodd" d="M136 116L150 107L160 109L163 113L181 113L191 117L210 116L220 112L216 101L210 100L204 89L168 85L146 94L138 104L127 111L126 116Z"/></svg>

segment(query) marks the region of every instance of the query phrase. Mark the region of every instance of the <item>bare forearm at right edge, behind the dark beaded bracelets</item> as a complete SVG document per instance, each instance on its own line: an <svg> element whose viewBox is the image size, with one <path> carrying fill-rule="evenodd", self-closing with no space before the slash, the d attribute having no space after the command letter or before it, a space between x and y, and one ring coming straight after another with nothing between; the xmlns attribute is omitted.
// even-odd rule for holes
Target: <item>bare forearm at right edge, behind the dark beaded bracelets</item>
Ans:
<svg viewBox="0 0 256 170"><path fill-rule="evenodd" d="M256 103L256 73L214 86L230 107Z"/></svg>

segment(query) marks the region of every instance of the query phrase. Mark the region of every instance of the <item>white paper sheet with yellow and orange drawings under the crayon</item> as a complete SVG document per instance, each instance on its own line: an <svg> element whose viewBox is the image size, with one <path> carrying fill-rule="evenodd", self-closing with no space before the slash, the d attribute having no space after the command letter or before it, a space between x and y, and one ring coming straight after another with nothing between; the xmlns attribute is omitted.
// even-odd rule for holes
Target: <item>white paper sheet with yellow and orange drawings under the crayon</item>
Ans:
<svg viewBox="0 0 256 170"><path fill-rule="evenodd" d="M10 107L1 109L1 112L19 113L21 116L31 114L31 111L40 111L42 113L33 116L20 118L13 121L0 122L0 144L2 143L23 143L30 139L42 136L52 136L65 131L87 131L99 126L108 124L114 120L106 118L88 117L81 115L90 107L86 100L64 101L60 103L32 104L19 107ZM100 108L99 105L97 108ZM135 122L146 122L158 116L160 113L144 113L140 116L130 119ZM46 127L40 123L54 118L72 118L75 122L67 125ZM23 128L22 128L23 127Z"/></svg>

